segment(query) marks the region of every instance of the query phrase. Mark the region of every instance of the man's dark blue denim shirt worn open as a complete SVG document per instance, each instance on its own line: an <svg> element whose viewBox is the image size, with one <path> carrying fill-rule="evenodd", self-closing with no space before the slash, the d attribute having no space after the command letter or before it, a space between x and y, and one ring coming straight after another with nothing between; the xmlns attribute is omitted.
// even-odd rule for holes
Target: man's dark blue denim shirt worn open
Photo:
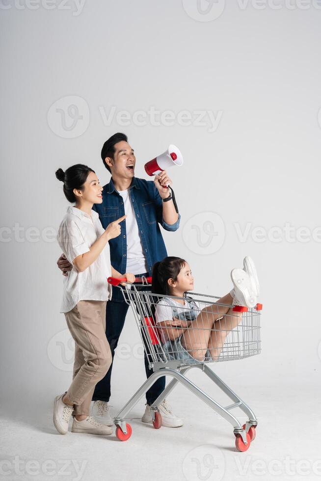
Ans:
<svg viewBox="0 0 321 481"><path fill-rule="evenodd" d="M180 225L181 216L175 224L167 224L162 217L162 200L153 181L133 178L130 187L130 199L134 208L143 252L146 257L148 272L151 275L153 265L167 256L164 240L160 232L159 224L166 231L176 231ZM112 178L104 186L103 202L94 204L93 210L99 214L100 221L107 228L110 222L125 215L122 196L116 190ZM126 222L121 222L121 234L115 239L109 240L110 263L118 272L126 272L127 261L127 233ZM142 274L142 272L133 272ZM112 300L123 300L123 294L118 287L112 288Z"/></svg>

